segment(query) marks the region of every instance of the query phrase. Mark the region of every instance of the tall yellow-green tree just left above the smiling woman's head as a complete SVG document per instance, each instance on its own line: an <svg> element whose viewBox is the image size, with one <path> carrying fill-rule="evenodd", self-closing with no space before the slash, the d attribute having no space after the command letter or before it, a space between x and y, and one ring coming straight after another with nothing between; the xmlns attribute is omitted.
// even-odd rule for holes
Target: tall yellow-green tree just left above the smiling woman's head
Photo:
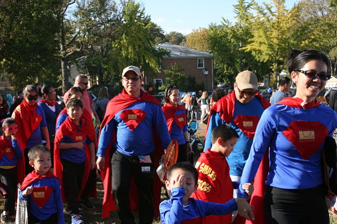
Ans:
<svg viewBox="0 0 337 224"><path fill-rule="evenodd" d="M263 5L254 3L256 15L249 20L252 38L242 49L251 52L258 61L269 63L276 78L285 62L285 55L294 45L289 33L295 26L298 11L297 8L287 10L284 0Z"/></svg>

